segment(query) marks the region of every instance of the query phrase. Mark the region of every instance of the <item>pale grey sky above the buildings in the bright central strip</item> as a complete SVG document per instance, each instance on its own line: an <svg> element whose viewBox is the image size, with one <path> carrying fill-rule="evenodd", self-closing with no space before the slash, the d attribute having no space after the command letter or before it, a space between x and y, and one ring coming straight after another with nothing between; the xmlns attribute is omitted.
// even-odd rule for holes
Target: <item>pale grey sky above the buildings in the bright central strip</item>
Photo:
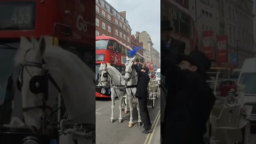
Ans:
<svg viewBox="0 0 256 144"><path fill-rule="evenodd" d="M147 31L153 47L160 52L160 1L156 0L106 0L118 12L126 11L126 19L136 31Z"/></svg>

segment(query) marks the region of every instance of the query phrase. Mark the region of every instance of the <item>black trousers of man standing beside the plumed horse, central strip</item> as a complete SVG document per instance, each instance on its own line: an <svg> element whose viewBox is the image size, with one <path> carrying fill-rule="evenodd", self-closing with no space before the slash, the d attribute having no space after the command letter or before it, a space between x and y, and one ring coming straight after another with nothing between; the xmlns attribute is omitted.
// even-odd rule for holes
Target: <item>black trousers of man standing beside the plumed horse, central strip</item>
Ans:
<svg viewBox="0 0 256 144"><path fill-rule="evenodd" d="M151 122L150 122L150 117L149 117L148 108L147 108L148 98L138 97L138 99L139 99L141 121L144 124L144 128L151 129Z"/></svg>

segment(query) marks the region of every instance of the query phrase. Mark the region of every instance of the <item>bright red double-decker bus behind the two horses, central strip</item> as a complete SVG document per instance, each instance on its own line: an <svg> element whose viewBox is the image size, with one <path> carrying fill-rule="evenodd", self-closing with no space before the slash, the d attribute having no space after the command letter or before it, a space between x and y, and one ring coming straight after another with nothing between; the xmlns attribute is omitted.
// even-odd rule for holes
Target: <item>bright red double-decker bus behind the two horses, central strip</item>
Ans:
<svg viewBox="0 0 256 144"><path fill-rule="evenodd" d="M99 67L100 63L108 63L115 67L122 75L125 74L124 64L126 62L127 51L132 50L131 47L123 44L114 37L96 36L95 42L95 79L96 79L96 97L109 98L111 92L109 88L100 86ZM139 53L142 58L143 56Z"/></svg>

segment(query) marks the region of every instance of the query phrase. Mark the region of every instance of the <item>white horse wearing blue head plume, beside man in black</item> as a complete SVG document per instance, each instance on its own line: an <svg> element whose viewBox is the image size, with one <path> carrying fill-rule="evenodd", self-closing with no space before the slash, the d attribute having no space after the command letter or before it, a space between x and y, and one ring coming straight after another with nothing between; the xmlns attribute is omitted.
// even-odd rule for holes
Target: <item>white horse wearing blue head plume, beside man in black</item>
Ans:
<svg viewBox="0 0 256 144"><path fill-rule="evenodd" d="M132 122L132 119L133 119L133 117L132 117L132 112L133 112L132 100L133 100L133 98L137 99L137 102L138 102L138 104L137 104L138 125L142 125L141 117L140 117L139 100L138 100L138 98L135 98L135 93L137 91L138 76L137 76L135 69L133 68L134 61L135 61L135 56L133 58L126 57L124 79L127 82L126 93L127 93L127 99L130 104L130 122L128 125L129 127L133 126L133 122Z"/></svg>

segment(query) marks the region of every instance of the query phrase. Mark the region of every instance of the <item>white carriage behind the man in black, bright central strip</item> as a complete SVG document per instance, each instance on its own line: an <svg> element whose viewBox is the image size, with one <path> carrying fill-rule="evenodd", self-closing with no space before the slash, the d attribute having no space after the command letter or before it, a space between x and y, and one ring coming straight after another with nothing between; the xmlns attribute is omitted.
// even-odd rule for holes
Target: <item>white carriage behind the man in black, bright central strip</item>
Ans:
<svg viewBox="0 0 256 144"><path fill-rule="evenodd" d="M156 78L151 78L148 83L148 99L151 100L152 108L155 107L155 100L158 98L158 81Z"/></svg>

